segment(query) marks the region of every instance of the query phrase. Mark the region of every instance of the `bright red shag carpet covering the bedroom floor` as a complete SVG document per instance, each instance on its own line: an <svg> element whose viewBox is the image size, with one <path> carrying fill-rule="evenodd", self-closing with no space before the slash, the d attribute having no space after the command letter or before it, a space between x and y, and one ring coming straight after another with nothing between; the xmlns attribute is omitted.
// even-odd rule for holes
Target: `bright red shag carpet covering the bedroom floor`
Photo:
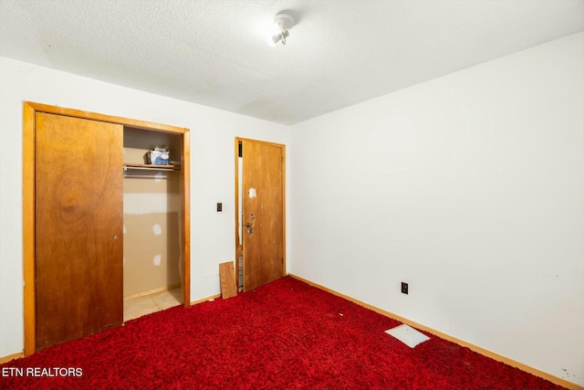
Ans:
<svg viewBox="0 0 584 390"><path fill-rule="evenodd" d="M0 388L562 388L431 334L410 349L399 324L284 278L2 364Z"/></svg>

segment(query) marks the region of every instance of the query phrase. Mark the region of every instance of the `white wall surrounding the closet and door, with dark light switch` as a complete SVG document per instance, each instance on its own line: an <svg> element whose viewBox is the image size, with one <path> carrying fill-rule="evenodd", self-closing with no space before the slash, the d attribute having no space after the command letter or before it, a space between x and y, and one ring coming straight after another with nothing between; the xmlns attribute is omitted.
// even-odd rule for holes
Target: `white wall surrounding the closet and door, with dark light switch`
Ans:
<svg viewBox="0 0 584 390"><path fill-rule="evenodd" d="M24 348L25 100L191 129L191 299L219 293L218 264L235 256L235 136L286 144L287 126L0 57L0 357Z"/></svg>

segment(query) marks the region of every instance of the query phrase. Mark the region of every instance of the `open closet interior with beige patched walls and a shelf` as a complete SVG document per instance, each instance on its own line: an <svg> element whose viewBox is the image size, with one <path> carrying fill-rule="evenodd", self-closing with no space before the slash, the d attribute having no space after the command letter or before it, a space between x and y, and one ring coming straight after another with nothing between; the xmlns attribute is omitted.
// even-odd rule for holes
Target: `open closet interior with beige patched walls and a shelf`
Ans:
<svg viewBox="0 0 584 390"><path fill-rule="evenodd" d="M124 127L124 321L184 303L182 142L182 134ZM155 148L168 158L151 161Z"/></svg>

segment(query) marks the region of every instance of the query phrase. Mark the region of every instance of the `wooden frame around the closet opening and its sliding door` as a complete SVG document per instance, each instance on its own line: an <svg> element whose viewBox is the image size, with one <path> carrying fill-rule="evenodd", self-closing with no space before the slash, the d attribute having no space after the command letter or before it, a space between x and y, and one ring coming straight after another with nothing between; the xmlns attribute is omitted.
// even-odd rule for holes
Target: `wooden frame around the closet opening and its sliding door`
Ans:
<svg viewBox="0 0 584 390"><path fill-rule="evenodd" d="M51 106L31 101L24 102L23 115L23 279L24 279L24 324L25 356L36 352L36 271L35 271L35 132L36 112L64 115L91 121L106 121L123 126L139 128L152 132L169 132L182 136L183 180L183 301L184 307L191 306L191 142L190 130L187 128L115 117L89 111L79 111ZM121 151L120 151L121 153ZM120 172L122 167L120 166Z"/></svg>

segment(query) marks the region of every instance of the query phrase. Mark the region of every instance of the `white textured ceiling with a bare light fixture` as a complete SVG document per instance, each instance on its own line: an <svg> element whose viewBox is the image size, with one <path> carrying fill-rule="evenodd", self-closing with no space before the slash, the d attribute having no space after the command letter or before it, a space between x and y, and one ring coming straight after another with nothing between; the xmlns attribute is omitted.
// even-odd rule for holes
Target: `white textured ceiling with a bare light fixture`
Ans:
<svg viewBox="0 0 584 390"><path fill-rule="evenodd" d="M583 30L584 0L0 0L2 56L285 124Z"/></svg>

